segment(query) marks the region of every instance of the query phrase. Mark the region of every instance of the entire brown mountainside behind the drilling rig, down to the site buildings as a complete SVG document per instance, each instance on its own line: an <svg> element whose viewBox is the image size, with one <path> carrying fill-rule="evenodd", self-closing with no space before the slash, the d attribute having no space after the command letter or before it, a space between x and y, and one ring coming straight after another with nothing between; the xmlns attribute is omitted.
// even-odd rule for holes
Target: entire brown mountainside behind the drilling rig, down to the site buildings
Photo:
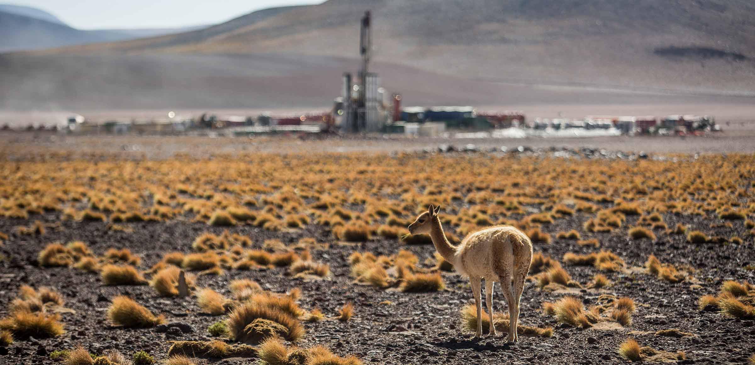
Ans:
<svg viewBox="0 0 755 365"><path fill-rule="evenodd" d="M0 108L326 105L341 73L356 71L368 10L375 69L411 104L755 94L751 0L329 0L168 36L0 55Z"/></svg>

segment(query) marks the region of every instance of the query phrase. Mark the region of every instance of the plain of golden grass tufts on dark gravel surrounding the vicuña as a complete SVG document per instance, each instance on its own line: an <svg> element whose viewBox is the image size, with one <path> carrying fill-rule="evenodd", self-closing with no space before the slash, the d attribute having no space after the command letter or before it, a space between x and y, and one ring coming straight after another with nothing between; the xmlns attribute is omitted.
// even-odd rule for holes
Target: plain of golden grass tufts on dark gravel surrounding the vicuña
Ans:
<svg viewBox="0 0 755 365"><path fill-rule="evenodd" d="M278 138L254 135L249 140L236 138L233 144L257 150L273 139L284 150L287 142ZM75 142L65 139L66 144ZM106 143L116 141L107 139ZM151 143L123 141L126 147ZM329 138L328 144L334 141L337 138ZM584 358L593 360L604 355L596 355L595 348L618 347L626 339L621 333L637 336L640 342L658 340L664 349L676 338L685 338L683 343L695 344L689 348L694 350L692 360L704 362L700 354L720 350L718 342L707 343L716 331L729 323L746 332L753 320L755 293L743 281L750 280L755 264L746 255L753 247L755 228L753 156L675 155L607 162L602 153L587 153L591 149L575 152L589 158L569 160L553 158L550 155L556 153L547 150L374 156L314 152L319 143L297 141L297 148L307 153L218 149L211 158L197 157L194 149L171 157L166 144L154 160L152 153L145 153L146 158L128 153L128 159L120 159L123 153L109 156L82 149L26 156L7 148L5 173L0 174L0 215L6 219L2 230L8 235L0 235L5 243L0 264L7 271L2 279L9 298L2 308L0 346L15 338L5 345L9 358L28 355L38 360L45 351L52 354L60 348L54 354L62 361L63 353L82 343L97 353L89 356L91 363L108 365L121 360L107 348L128 350L128 360L134 363L140 360L132 351L139 349L159 362L186 355L189 358L174 361L214 363L239 353L254 354L248 360L253 362L261 356L251 345L279 336L285 341L279 353L285 356L268 363L310 365L351 360L326 350L295 348L288 341L336 344L334 334L365 336L368 326L375 342L391 336L408 336L417 344L443 341L425 337L449 333L452 338L473 331L464 322L476 320L476 312L461 295L469 291L469 284L454 274L461 268L433 255L427 234L405 236L412 218L430 204L443 206L439 218L451 243L498 224L517 227L535 241L522 305L522 320L532 327L517 329L522 336L551 336L553 329L547 326L554 326L559 336L572 336L566 342L580 345ZM17 143L13 147L24 148ZM91 155L74 157L82 153ZM644 268L637 268L643 263ZM182 269L190 296L173 298ZM143 285L145 278L149 287L126 286ZM195 281L202 287L196 288ZM16 294L22 283L29 289ZM444 286L450 291L433 292ZM713 286L720 286L720 291ZM482 314L484 330L492 321L500 333L506 331L507 305L501 289L497 283L495 317ZM125 325L110 318L113 308L105 317L103 308L117 295L138 302L124 316L131 318L125 322L134 329L120 328ZM365 299L357 301L355 295ZM695 295L699 303L686 308L689 296L683 295ZM341 308L352 300L358 308ZM528 302L532 300L546 301L542 306L548 317L531 313L537 307ZM696 311L697 304L705 313ZM460 309L466 311L462 325L448 329L449 318L457 321L454 314ZM171 323L140 328L159 322L159 314L170 317ZM374 321L381 318L375 315L392 323L377 325ZM421 320L411 320L412 316ZM42 341L60 333L50 324L55 322L60 331L65 323L70 337ZM696 326L698 322L705 326ZM39 331L29 335L26 323ZM179 328L183 323L196 332L180 335L177 330L184 329ZM633 328L613 331L618 337L602 336L620 325ZM107 326L104 335L97 326ZM423 326L437 328L423 332ZM564 329L562 334L563 326L596 328ZM45 334L45 328L53 329L52 334ZM418 334L405 334L409 332ZM199 339L191 336L202 333L216 341L178 341L169 354L153 345ZM732 348L744 348L745 335L740 339L735 333L726 341ZM40 339L44 348L24 336ZM590 336L598 342L590 342ZM347 349L374 350L344 339L334 348L340 355ZM491 339L492 347L484 342L473 347L497 351L500 340ZM646 363L685 356L637 347ZM377 350L365 361L385 361L386 353ZM452 350L442 350L441 357L450 363L468 360L464 351L453 356ZM535 357L535 362L558 363L568 352L563 346L552 353L540 345L527 350L532 354L526 357ZM601 360L618 358L609 355L611 359ZM731 355L744 360L750 354ZM427 359L438 360L430 353ZM484 354L481 359L485 362ZM395 360L421 362L424 357Z"/></svg>

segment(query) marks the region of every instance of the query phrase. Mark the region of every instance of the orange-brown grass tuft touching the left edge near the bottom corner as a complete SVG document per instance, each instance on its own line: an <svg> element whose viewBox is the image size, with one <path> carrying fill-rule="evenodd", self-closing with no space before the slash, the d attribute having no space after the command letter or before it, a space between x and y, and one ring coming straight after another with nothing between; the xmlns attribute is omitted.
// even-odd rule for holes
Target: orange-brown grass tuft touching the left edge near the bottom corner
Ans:
<svg viewBox="0 0 755 365"><path fill-rule="evenodd" d="M0 320L0 330L10 331L14 337L26 339L47 339L62 335L63 323L60 315L44 312L14 311L8 317Z"/></svg>

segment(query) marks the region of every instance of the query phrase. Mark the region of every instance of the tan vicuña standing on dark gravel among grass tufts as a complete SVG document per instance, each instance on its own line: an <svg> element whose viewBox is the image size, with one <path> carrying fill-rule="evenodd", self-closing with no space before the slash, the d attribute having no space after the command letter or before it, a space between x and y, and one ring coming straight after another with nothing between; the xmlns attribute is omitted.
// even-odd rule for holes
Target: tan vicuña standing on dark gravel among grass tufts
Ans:
<svg viewBox="0 0 755 365"><path fill-rule="evenodd" d="M469 234L459 246L453 246L443 233L438 218L440 207L433 207L409 224L411 234L430 234L433 245L456 270L470 278L477 307L476 338L482 335L482 302L480 291L485 279L485 306L493 316L493 286L501 283L509 307L509 342L516 342L516 326L519 323L519 299L522 297L524 280L532 261L532 241L521 230L511 226L496 226ZM493 321L490 334L496 335Z"/></svg>

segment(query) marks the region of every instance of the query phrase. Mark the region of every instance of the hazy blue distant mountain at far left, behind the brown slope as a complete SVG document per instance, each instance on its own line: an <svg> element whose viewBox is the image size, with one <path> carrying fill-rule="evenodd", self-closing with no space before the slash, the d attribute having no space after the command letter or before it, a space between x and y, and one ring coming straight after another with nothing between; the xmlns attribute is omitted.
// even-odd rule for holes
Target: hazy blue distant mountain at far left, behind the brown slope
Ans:
<svg viewBox="0 0 755 365"><path fill-rule="evenodd" d="M39 9L0 5L0 52L33 51L95 42L119 42L189 32L204 27L80 30L66 25L54 15Z"/></svg>

